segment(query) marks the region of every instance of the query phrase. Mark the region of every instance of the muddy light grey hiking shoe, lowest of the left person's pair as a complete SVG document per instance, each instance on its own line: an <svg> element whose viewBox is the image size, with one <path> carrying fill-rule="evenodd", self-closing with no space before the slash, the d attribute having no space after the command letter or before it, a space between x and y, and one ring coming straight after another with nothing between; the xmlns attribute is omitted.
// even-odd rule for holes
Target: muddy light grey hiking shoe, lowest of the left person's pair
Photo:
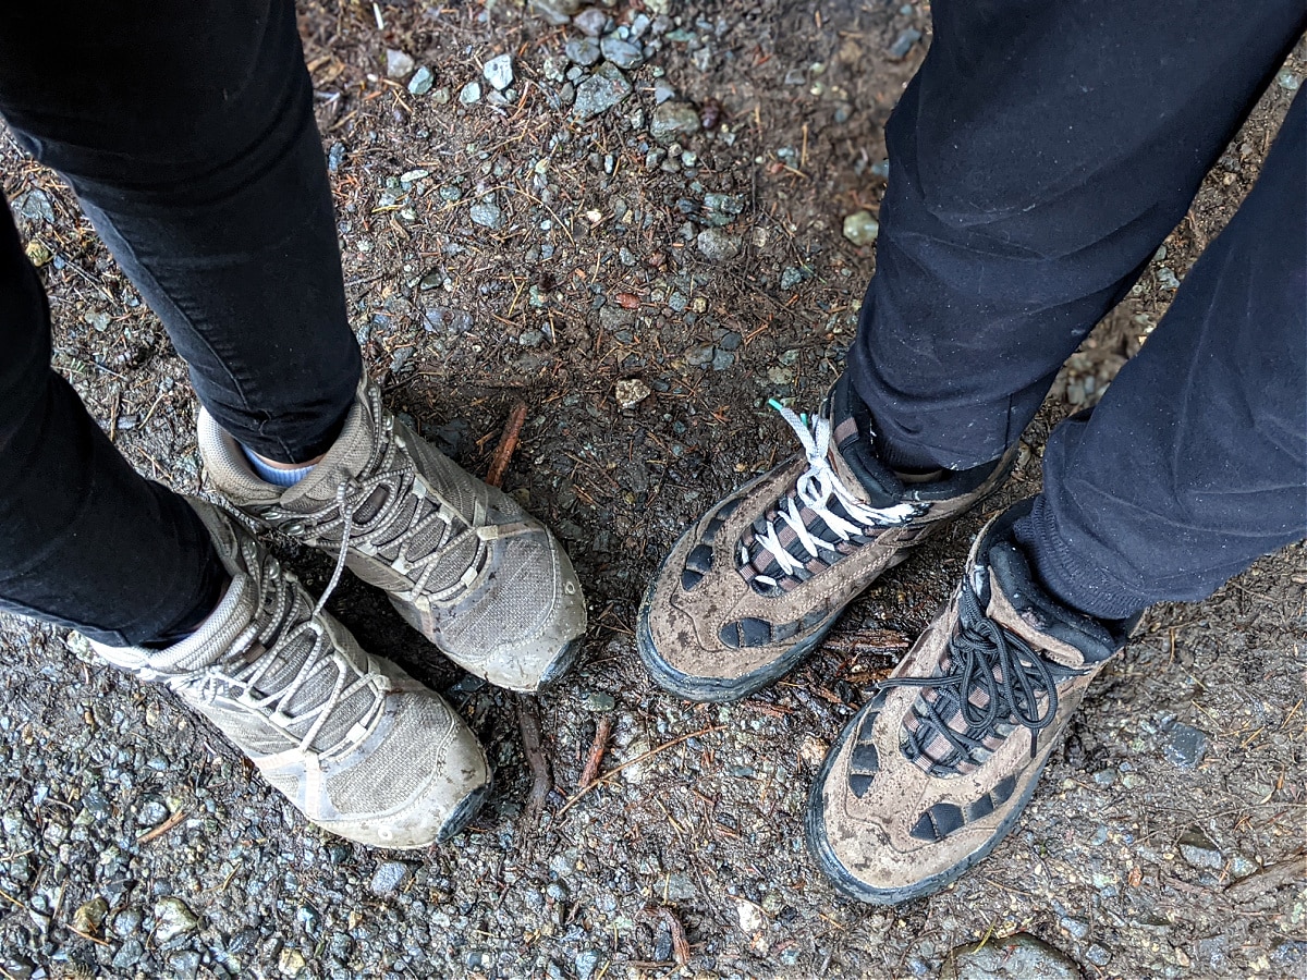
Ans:
<svg viewBox="0 0 1307 980"><path fill-rule="evenodd" d="M438 694L363 652L231 516L191 503L231 576L218 608L166 649L95 652L166 683L319 827L389 848L461 830L490 789L472 730Z"/></svg>

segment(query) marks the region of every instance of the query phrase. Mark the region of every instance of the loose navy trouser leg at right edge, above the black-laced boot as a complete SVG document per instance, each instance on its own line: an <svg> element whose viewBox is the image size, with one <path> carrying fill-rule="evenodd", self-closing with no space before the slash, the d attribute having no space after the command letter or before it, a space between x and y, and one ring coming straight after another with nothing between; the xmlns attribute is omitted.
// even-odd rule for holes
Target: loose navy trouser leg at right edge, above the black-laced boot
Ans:
<svg viewBox="0 0 1307 980"><path fill-rule="evenodd" d="M1307 537L1307 94L1142 350L1053 434L1017 533L1053 592L1114 618Z"/></svg>

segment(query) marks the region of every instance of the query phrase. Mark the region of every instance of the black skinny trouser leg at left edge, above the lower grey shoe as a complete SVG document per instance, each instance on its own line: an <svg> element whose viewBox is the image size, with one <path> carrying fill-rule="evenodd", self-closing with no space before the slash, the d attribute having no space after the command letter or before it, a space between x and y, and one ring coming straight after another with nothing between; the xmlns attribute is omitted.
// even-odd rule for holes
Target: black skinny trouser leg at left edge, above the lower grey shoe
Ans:
<svg viewBox="0 0 1307 980"><path fill-rule="evenodd" d="M50 368L50 308L0 203L0 609L149 643L193 627L223 581L195 511Z"/></svg>

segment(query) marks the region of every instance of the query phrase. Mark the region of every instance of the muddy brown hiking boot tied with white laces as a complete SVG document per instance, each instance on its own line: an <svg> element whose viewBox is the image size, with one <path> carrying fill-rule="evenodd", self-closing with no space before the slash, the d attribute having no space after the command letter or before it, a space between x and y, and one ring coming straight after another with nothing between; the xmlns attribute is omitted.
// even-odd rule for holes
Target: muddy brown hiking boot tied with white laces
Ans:
<svg viewBox="0 0 1307 980"><path fill-rule="evenodd" d="M708 510L640 606L640 657L660 687L690 700L744 698L792 670L850 601L993 493L1014 459L906 483L877 460L847 378L810 425L774 408L804 453Z"/></svg>

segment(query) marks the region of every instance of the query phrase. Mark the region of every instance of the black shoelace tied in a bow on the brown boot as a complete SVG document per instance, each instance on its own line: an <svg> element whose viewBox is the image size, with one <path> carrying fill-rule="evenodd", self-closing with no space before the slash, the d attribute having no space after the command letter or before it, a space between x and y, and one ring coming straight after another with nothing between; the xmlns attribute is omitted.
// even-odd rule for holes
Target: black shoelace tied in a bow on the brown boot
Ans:
<svg viewBox="0 0 1307 980"><path fill-rule="evenodd" d="M915 732L904 730L903 745L904 754L915 760L942 736L954 751L944 759L931 755L932 771L955 772L962 762L975 763L978 753L988 751L985 738L996 734L1002 723L1025 725L1031 734L1051 725L1057 715L1057 681L1077 673L1051 664L1019 636L987 617L970 585L963 585L958 596L958 630L949 640L946 673L882 681L885 687L936 691L935 700L918 700L924 706L924 715L918 710L921 724ZM987 695L984 707L971 700L976 690ZM1042 710L1040 696L1046 699ZM949 724L959 715L965 732ZM1031 740L1031 753L1036 745L1038 737Z"/></svg>

